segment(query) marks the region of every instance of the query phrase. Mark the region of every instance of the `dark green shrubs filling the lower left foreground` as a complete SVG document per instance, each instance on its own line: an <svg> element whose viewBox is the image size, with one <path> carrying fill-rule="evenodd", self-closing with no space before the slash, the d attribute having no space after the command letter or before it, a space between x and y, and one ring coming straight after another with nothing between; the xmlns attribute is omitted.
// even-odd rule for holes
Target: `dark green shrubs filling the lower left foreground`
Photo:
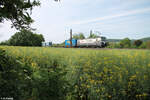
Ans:
<svg viewBox="0 0 150 100"><path fill-rule="evenodd" d="M66 100L68 82L64 65L20 62L0 49L0 97L14 100ZM60 66L62 68L60 68Z"/></svg>

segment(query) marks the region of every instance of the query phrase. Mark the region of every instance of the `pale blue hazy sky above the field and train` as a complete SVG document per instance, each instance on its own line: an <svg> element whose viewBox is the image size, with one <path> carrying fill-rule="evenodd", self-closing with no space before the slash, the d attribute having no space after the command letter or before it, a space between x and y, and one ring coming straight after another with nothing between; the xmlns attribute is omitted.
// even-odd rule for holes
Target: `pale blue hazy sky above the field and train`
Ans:
<svg viewBox="0 0 150 100"><path fill-rule="evenodd" d="M32 11L32 27L45 40L61 43L73 33L90 30L109 39L150 37L150 0L40 0ZM17 30L11 23L0 23L0 41L8 40Z"/></svg>

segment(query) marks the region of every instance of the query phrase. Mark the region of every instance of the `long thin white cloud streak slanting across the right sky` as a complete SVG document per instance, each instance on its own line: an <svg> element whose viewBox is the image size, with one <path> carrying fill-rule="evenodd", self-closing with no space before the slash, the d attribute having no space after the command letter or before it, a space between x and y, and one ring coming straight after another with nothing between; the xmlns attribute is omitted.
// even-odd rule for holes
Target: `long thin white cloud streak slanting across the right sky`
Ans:
<svg viewBox="0 0 150 100"><path fill-rule="evenodd" d="M114 19L114 18L118 18L118 17L125 17L125 16L140 14L140 13L144 13L144 12L148 12L148 11L150 11L150 8L131 10L131 11L120 13L120 14L114 14L114 15L110 15L110 16L89 19L89 20L85 20L85 21L76 21L76 22L70 23L69 25L79 25L79 24L87 24L87 23L103 21L103 20L110 20L110 19Z"/></svg>

